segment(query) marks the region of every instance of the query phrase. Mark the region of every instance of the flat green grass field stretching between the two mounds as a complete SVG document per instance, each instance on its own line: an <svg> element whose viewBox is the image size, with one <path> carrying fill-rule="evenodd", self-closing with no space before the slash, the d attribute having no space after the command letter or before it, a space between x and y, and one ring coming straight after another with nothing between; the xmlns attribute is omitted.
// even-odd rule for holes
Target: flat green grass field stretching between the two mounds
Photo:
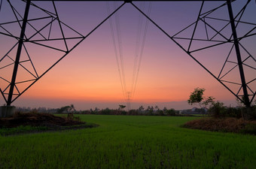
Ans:
<svg viewBox="0 0 256 169"><path fill-rule="evenodd" d="M0 168L254 168L256 137L179 126L198 117L93 116L97 128L0 136Z"/></svg>

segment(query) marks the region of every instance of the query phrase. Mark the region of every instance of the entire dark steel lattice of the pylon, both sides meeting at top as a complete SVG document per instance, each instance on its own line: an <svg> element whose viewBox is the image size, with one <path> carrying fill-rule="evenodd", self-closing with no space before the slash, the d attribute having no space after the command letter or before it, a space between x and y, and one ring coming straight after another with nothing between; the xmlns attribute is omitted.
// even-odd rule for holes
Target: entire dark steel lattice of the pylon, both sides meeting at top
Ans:
<svg viewBox="0 0 256 169"><path fill-rule="evenodd" d="M2 8L2 2L8 2L10 5L11 10L16 18L16 20L0 23L0 35L5 35L7 37L13 38L16 43L10 50L4 55L0 56L0 71L8 68L13 68L13 73L10 77L6 77L5 74L0 74L0 92L2 93L3 98L6 101L7 105L11 105L20 95L23 95L27 89L29 89L33 84L35 84L44 74L47 74L51 68L53 68L57 63L59 63L63 58L65 58L75 47L78 47L82 41L84 41L89 35L96 31L99 26L102 26L106 20L108 20L113 14L120 10L126 3L130 3L133 5L136 10L138 10L143 16L145 16L154 26L157 26L160 31L162 31L167 37L170 38L175 44L178 45L188 56L194 59L202 68L204 68L215 80L218 80L226 89L228 89L236 98L242 101L246 107L250 107L252 101L254 100L256 94L256 86L254 83L256 81L256 77L246 77L246 69L251 69L253 71L256 70L256 59L254 56L249 53L246 49L245 45L242 43L245 38L250 38L256 35L256 23L249 23L243 21L243 14L245 13L246 8L250 3L251 0L245 2L245 5L242 6L237 14L233 14L233 9L231 4L235 1L218 1L223 2L222 5L213 8L211 10L205 10L205 2L207 1L199 1L202 2L197 20L194 23L191 23L181 31L175 33L174 35L169 35L166 30L162 29L158 24L157 21L152 20L150 17L147 16L142 10L140 10L132 1L124 1L116 10L114 10L108 17L105 17L98 26L92 29L87 35L83 35L80 32L76 31L72 28L72 26L68 26L66 23L63 23L59 20L59 14L56 9L55 1L52 2L53 11L47 11L47 9L41 8L35 5L33 2L37 0L27 0L23 1L26 3L26 8L23 16L18 12L16 8L12 5L10 0L1 0L0 1L0 11ZM20 0L22 1L22 0ZM59 0L60 1L60 0ZM83 0L80 0L83 1ZM134 1L135 2L135 1ZM189 1L187 1L189 2ZM34 8L38 11L41 11L44 15L42 17L35 17L29 19L29 8ZM215 17L215 14L218 11L225 9L228 13L229 18L220 18ZM212 21L215 21L213 24ZM43 24L40 26L35 26L33 22L35 21L44 21ZM10 30L8 30L8 25L17 23L19 25L20 36L14 35ZM221 23L221 24L218 24ZM53 24L58 26L58 31L61 34L61 38L52 38L53 36ZM238 36L238 27L243 24L245 26L250 26L251 29L248 32L245 32L243 35ZM221 25L221 28L220 28ZM29 26L30 29L33 30L34 33L27 33L26 27ZM203 28L202 28L203 26ZM228 31L227 31L228 29ZM202 34L202 30L205 33L205 37L198 38L197 34ZM55 30L56 31L56 30ZM66 31L72 32L72 37L66 36ZM69 44L69 41L77 40L77 42L72 45ZM54 42L61 42L64 44L64 47L59 47L58 43ZM46 47L51 50L58 51L62 53L62 56L47 68L46 71L42 72L41 74L38 73L37 68L33 63L33 59L29 54L29 50L27 49L27 44L35 44L41 47ZM213 73L212 71L207 68L206 65L203 65L200 62L200 59L197 59L197 55L202 51L208 51L210 49L215 49L215 47L221 47L223 45L227 45L230 47L227 56L225 57L224 62L218 71L218 73ZM11 53L16 50L16 56L11 56ZM26 59L20 60L20 55L22 53L26 53ZM241 52L242 51L242 52ZM231 59L232 56L236 56L236 61ZM248 63L249 61L249 63ZM1 65L1 64L4 65ZM25 64L26 63L26 64ZM30 65L30 69L26 68L26 65ZM23 71L26 71L31 75L32 78L17 81L17 70L19 68L23 68ZM229 75L236 73L236 77L240 77L240 82L233 81L229 79ZM3 85L5 83L5 85ZM20 89L19 84L25 84L25 88ZM237 88L233 88L232 86L237 86Z"/></svg>

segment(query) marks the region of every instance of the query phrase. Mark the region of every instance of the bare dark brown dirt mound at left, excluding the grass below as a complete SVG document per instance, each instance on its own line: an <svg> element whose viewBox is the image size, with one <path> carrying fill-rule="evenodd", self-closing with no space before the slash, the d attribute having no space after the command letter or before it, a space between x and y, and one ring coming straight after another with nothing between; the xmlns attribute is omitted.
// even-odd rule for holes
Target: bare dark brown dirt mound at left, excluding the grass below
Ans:
<svg viewBox="0 0 256 169"><path fill-rule="evenodd" d="M0 119L0 128L15 128L20 125L70 126L82 124L85 122L79 121L73 114L68 114L68 117L61 117L49 113L16 113L13 117Z"/></svg>

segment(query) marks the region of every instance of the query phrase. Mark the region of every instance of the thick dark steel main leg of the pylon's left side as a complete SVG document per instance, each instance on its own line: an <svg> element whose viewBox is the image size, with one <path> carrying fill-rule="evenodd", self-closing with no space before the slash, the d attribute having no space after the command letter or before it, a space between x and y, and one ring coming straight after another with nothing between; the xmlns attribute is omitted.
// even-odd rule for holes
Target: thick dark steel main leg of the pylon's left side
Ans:
<svg viewBox="0 0 256 169"><path fill-rule="evenodd" d="M18 44L16 59L15 59L15 62L14 62L14 71L13 71L13 75L12 75L12 78L11 78L10 90L9 90L9 94L8 94L8 101L7 101L8 106L11 105L12 97L14 95L15 80L16 80L16 77L17 77L17 71L18 71L18 67L19 67L19 64L20 64L20 54L21 54L21 50L22 50L22 47L23 47L23 38L24 38L24 35L25 35L26 23L27 23L28 15L29 15L30 1L31 0L26 1L26 9L25 9L24 17L23 17L23 26L22 26L21 32L20 32L20 40L19 40L19 44Z"/></svg>

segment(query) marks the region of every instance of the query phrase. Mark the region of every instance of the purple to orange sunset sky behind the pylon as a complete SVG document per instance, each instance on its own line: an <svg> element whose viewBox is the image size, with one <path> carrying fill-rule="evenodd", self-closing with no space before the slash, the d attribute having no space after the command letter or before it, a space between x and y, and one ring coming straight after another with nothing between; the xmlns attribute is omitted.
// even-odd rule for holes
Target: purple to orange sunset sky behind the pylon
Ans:
<svg viewBox="0 0 256 169"><path fill-rule="evenodd" d="M245 5L244 0L237 0L233 3L233 13L237 12ZM23 16L25 3L17 0L11 1L14 8L20 11ZM48 11L53 11L52 2L34 2L41 8L47 8ZM56 10L59 14L59 20L66 23L68 26L75 29L82 35L87 35L99 23L108 16L108 7L110 11L119 7L123 2L56 2ZM169 35L181 31L185 27L197 20L197 15L200 11L202 2L134 2L142 11L148 13L150 8L150 17ZM209 11L216 8L224 2L205 2L203 11ZM144 7L144 8L143 8ZM256 4L250 2L241 20L245 22L256 23ZM44 14L38 12L38 9L31 8L29 11L29 19L36 17L44 17ZM146 18L136 10L131 4L126 4L117 16L111 17L113 24L114 38L117 43L117 27L116 17L119 19L120 40L122 41L121 48L123 53L123 71L125 74L126 92L132 92L134 59L136 58L136 46L138 46L138 27L139 20L142 20L142 32L140 35L139 47L142 47L142 38L145 31ZM212 14L212 17L218 17L228 20L227 6L221 8L220 11ZM141 18L141 19L140 19ZM15 17L4 0L0 11L0 23L14 21ZM37 20L31 22L31 25L36 29L41 29L48 20ZM223 23L217 21L212 22L212 25L221 29ZM57 22L56 22L57 23ZM53 23L50 38L61 38L58 24ZM55 25L54 25L55 24ZM222 24L222 25L221 25ZM199 26L201 26L199 24ZM204 26L204 25L202 25ZM192 27L194 28L194 27ZM204 28L204 27L202 27ZM242 24L237 27L238 35L244 35L252 27L248 24ZM10 24L5 27L10 30L13 35L20 36L20 28L17 23ZM48 35L48 29L41 33ZM31 27L27 27L26 35L33 35ZM191 31L182 32L181 37L190 38ZM5 32L0 27L0 32ZM67 27L63 28L66 37L76 37L78 34ZM255 33L256 31L254 30ZM230 26L224 30L224 33L230 34ZM204 29L198 29L195 38L205 38ZM41 38L39 35L36 38ZM256 56L255 36L248 38L241 43L246 47L251 56ZM73 47L78 40L69 41L69 49ZM0 59L5 56L8 50L17 43L15 38L9 38L5 35L0 35ZM65 49L63 41L47 42L52 47ZM45 44L47 44L45 43ZM187 42L181 42L181 46L185 47ZM43 44L43 43L42 43ZM26 49L29 51L29 56L32 59L35 69L40 76L50 65L53 65L65 53L42 47L37 44L25 43ZM191 50L197 49L202 45L193 44ZM215 76L224 64L225 59L230 51L232 44L224 44L220 47L214 47L209 50L203 50L193 55L209 68ZM117 46L118 48L118 46ZM118 48L119 49L119 48ZM117 50L118 50L117 49ZM141 49L141 48L139 48ZM8 54L11 58L15 58L17 47ZM141 51L141 50L139 50ZM248 53L242 50L242 59L245 59ZM120 59L120 56L117 55ZM26 53L23 48L21 61L26 60ZM233 57L233 58L232 58ZM234 53L231 53L230 60L236 62ZM120 60L119 60L120 61ZM10 59L3 59L0 62L0 68L10 63ZM256 67L253 59L248 59L246 64L251 67ZM34 73L29 62L24 62L29 70ZM231 68L225 67L225 68ZM13 66L0 69L0 77L11 80L11 71ZM225 70L224 70L225 71ZM226 70L227 71L227 70ZM255 78L255 69L245 68L246 80ZM239 83L239 74L234 70L229 77L233 82ZM32 79L32 74L29 74L23 68L19 68L17 81ZM25 89L29 83L20 85L20 89ZM6 83L0 80L1 89L5 89ZM139 76L132 99L132 108L138 108L139 105L159 105L160 108L168 107L175 109L186 109L190 106L187 104L187 99L190 92L195 88L200 87L206 89L206 96L213 96L218 101L224 101L227 104L236 105L235 97L224 88L217 80L215 80L208 72L206 72L197 62L194 62L187 53L184 53L178 45L173 43L160 29L157 29L154 24L148 22L148 29L145 37L145 46L142 53L142 62L139 67ZM229 86L231 89L237 90L236 86ZM256 82L251 83L251 89L255 91ZM114 53L113 37L111 35L110 20L107 20L99 29L96 29L93 34L86 38L75 50L72 50L66 58L62 59L52 70L47 72L38 82L20 96L13 105L18 107L62 107L67 104L74 104L78 110L85 110L94 107L99 108L117 108L118 104L125 104L123 90L120 83L120 75L117 69L117 60ZM5 100L1 97L0 104L5 104Z"/></svg>

